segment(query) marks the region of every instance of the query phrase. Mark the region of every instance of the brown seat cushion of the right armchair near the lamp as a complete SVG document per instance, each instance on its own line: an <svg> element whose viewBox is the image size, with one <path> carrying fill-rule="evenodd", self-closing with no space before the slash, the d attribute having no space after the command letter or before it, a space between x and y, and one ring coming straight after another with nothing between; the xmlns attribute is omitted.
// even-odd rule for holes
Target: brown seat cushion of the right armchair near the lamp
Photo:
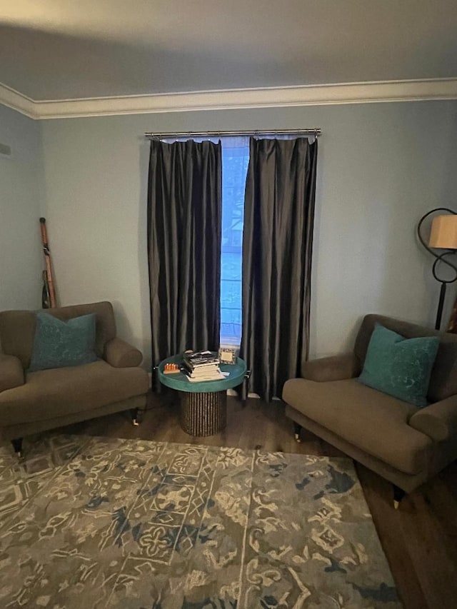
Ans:
<svg viewBox="0 0 457 609"><path fill-rule="evenodd" d="M292 378L283 400L362 451L404 473L426 468L431 439L408 426L417 408L355 378L318 383Z"/></svg>

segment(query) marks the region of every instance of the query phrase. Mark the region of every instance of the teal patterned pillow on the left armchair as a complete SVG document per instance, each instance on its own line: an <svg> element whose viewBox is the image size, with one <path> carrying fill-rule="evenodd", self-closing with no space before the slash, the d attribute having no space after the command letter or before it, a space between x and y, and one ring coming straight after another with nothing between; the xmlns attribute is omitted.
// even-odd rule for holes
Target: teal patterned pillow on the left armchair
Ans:
<svg viewBox="0 0 457 609"><path fill-rule="evenodd" d="M68 321L61 321L49 313L36 313L29 372L79 366L96 359L94 313Z"/></svg>

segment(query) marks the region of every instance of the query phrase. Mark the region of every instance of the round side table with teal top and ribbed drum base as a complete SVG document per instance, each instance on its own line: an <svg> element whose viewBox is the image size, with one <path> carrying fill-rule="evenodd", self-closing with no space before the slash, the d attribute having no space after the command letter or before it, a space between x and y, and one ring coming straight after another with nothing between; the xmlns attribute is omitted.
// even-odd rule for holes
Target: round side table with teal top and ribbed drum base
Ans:
<svg viewBox="0 0 457 609"><path fill-rule="evenodd" d="M164 374L167 363L181 365L181 355L166 358L159 363L159 381L179 391L181 398L180 425L189 436L214 436L227 424L227 389L237 387L246 378L246 363L236 358L234 364L221 363L221 372L229 376L218 381L191 383L182 372Z"/></svg>

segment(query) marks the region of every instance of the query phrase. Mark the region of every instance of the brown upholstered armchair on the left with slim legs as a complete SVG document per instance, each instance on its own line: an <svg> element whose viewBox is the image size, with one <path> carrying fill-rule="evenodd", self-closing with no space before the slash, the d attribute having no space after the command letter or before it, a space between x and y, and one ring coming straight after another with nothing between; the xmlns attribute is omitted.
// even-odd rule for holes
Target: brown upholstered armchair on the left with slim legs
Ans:
<svg viewBox="0 0 457 609"><path fill-rule="evenodd" d="M69 423L130 409L134 423L146 406L149 376L141 352L117 338L111 303L45 311L63 321L96 314L96 356L81 366L27 373L34 343L34 311L0 313L0 435L21 451L21 438Z"/></svg>

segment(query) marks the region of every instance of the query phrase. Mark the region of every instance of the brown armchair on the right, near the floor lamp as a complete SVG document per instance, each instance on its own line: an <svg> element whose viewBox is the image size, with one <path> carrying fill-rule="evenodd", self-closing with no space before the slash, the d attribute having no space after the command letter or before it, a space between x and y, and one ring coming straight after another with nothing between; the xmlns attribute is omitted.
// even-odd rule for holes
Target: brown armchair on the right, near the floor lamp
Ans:
<svg viewBox="0 0 457 609"><path fill-rule="evenodd" d="M356 381L375 323L406 338L440 336L428 388L429 406ZM283 388L286 415L396 487L411 492L457 458L457 335L367 315L352 353L303 363L303 378Z"/></svg>

